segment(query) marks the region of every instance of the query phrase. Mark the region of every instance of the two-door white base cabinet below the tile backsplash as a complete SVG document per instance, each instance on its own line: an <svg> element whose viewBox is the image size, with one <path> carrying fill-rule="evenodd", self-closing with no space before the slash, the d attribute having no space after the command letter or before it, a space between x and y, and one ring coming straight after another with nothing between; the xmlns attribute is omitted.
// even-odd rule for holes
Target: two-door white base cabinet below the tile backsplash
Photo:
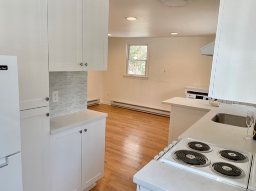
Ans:
<svg viewBox="0 0 256 191"><path fill-rule="evenodd" d="M51 191L84 191L104 175L106 118L50 135Z"/></svg>

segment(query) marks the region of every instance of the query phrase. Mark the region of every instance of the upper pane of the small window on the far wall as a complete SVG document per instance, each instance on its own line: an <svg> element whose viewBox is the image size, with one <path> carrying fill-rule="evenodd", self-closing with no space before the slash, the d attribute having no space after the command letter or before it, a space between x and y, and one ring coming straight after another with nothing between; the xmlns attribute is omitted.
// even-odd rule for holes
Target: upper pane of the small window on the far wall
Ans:
<svg viewBox="0 0 256 191"><path fill-rule="evenodd" d="M146 60L147 45L129 45L129 59L131 60Z"/></svg>

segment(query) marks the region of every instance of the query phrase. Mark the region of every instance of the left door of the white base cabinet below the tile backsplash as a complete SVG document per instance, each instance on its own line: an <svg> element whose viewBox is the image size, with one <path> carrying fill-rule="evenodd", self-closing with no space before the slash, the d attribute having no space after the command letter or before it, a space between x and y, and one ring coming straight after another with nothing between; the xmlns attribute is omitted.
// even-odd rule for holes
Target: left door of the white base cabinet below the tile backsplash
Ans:
<svg viewBox="0 0 256 191"><path fill-rule="evenodd" d="M81 128L50 135L51 191L81 191Z"/></svg>

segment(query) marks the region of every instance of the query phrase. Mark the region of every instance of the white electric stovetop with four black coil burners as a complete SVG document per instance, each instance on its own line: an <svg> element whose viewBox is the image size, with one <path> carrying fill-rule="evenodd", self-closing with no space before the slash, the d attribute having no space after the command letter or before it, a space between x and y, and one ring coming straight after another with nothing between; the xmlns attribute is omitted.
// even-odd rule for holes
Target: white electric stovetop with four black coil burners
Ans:
<svg viewBox="0 0 256 191"><path fill-rule="evenodd" d="M183 138L158 161L247 189L252 154Z"/></svg>

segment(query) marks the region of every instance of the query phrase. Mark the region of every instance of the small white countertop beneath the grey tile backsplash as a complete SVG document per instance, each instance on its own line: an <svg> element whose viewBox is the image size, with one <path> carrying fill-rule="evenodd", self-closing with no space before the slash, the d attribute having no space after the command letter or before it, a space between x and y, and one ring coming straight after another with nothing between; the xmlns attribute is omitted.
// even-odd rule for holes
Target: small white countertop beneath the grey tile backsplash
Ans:
<svg viewBox="0 0 256 191"><path fill-rule="evenodd" d="M86 109L58 117L53 117L50 118L50 134L56 134L70 128L106 118L107 116L108 114L106 113Z"/></svg>

